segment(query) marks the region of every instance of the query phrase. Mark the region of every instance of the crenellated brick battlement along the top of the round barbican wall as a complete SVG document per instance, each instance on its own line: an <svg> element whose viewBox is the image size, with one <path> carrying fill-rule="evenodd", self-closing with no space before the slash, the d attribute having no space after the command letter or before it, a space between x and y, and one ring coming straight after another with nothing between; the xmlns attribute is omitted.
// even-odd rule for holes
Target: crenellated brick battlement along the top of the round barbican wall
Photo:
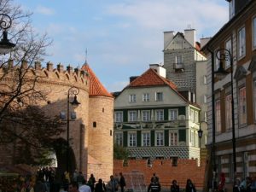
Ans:
<svg viewBox="0 0 256 192"><path fill-rule="evenodd" d="M14 63L14 61L9 61L8 65L0 70L0 74L4 75L4 78L15 77L15 72L17 69L21 69L22 73L26 73L27 79L37 78L40 83L52 83L52 84L75 84L78 87L88 88L89 73L80 68L73 68L67 66L65 70L63 65L58 64L54 68L52 62L48 62L46 67L42 67L40 61L35 61L34 64L29 64L27 61L21 61L20 63ZM1 75L1 76L2 76ZM84 87L84 88L85 88Z"/></svg>

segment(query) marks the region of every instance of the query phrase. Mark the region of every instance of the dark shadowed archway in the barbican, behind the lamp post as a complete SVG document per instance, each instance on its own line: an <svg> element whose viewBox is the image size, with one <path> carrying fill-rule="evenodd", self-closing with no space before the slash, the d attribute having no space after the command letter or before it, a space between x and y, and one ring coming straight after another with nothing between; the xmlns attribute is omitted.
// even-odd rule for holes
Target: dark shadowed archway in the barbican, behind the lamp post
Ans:
<svg viewBox="0 0 256 192"><path fill-rule="evenodd" d="M53 148L55 149L55 155L57 158L58 167L56 169L56 177L58 180L61 179L61 175L67 170L67 140L63 138L57 138L53 142ZM69 147L68 151L69 160L69 170L70 175L77 168L75 155L73 153L73 148Z"/></svg>

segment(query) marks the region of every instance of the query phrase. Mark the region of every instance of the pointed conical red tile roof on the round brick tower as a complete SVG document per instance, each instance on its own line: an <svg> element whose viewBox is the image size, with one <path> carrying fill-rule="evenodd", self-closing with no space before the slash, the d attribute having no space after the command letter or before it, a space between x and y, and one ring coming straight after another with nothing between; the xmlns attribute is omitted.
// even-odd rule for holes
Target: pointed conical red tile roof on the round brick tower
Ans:
<svg viewBox="0 0 256 192"><path fill-rule="evenodd" d="M96 74L90 69L89 65L85 62L81 70L85 70L89 73L90 87L89 96L108 96L113 97L108 90L102 85Z"/></svg>

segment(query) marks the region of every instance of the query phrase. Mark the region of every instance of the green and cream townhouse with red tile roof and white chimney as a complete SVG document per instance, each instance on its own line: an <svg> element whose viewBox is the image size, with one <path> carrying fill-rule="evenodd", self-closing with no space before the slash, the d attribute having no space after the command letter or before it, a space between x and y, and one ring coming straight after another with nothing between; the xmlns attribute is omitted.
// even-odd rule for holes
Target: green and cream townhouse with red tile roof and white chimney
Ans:
<svg viewBox="0 0 256 192"><path fill-rule="evenodd" d="M131 159L200 160L200 108L177 91L158 64L132 77L114 101L114 143Z"/></svg>

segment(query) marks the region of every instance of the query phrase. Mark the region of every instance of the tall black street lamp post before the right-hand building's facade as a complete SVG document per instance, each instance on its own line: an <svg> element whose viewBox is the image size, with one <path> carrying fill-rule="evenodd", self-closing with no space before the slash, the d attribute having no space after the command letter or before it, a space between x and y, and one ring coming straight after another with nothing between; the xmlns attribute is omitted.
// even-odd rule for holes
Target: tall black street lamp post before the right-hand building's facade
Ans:
<svg viewBox="0 0 256 192"><path fill-rule="evenodd" d="M219 51L219 55L218 55ZM217 75L226 75L229 72L224 70L222 61L230 61L230 74L231 74L231 115L232 115L232 150L233 150L233 182L236 183L236 129L235 129L235 112L234 112L234 93L233 93L233 56L229 49L218 49L216 52L216 58L220 61Z"/></svg>

